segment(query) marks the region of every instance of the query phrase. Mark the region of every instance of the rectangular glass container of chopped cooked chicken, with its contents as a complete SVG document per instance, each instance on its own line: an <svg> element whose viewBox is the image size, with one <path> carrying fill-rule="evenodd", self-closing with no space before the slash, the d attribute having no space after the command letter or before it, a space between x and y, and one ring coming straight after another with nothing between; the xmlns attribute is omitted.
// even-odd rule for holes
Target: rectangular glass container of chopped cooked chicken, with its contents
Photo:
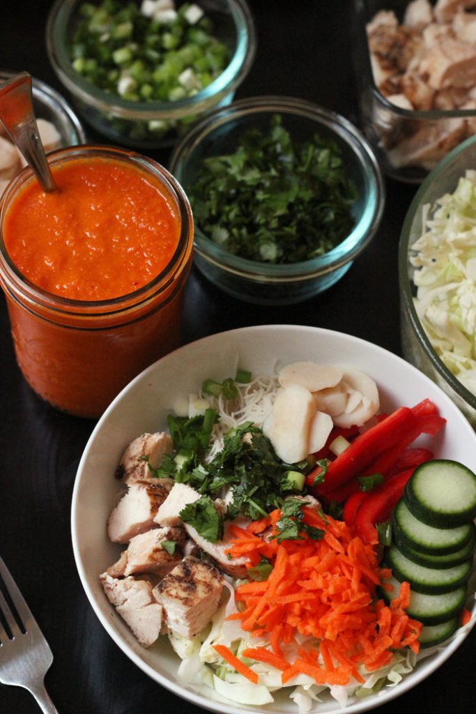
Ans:
<svg viewBox="0 0 476 714"><path fill-rule="evenodd" d="M476 4L355 0L363 130L385 173L419 183L476 131Z"/></svg>

